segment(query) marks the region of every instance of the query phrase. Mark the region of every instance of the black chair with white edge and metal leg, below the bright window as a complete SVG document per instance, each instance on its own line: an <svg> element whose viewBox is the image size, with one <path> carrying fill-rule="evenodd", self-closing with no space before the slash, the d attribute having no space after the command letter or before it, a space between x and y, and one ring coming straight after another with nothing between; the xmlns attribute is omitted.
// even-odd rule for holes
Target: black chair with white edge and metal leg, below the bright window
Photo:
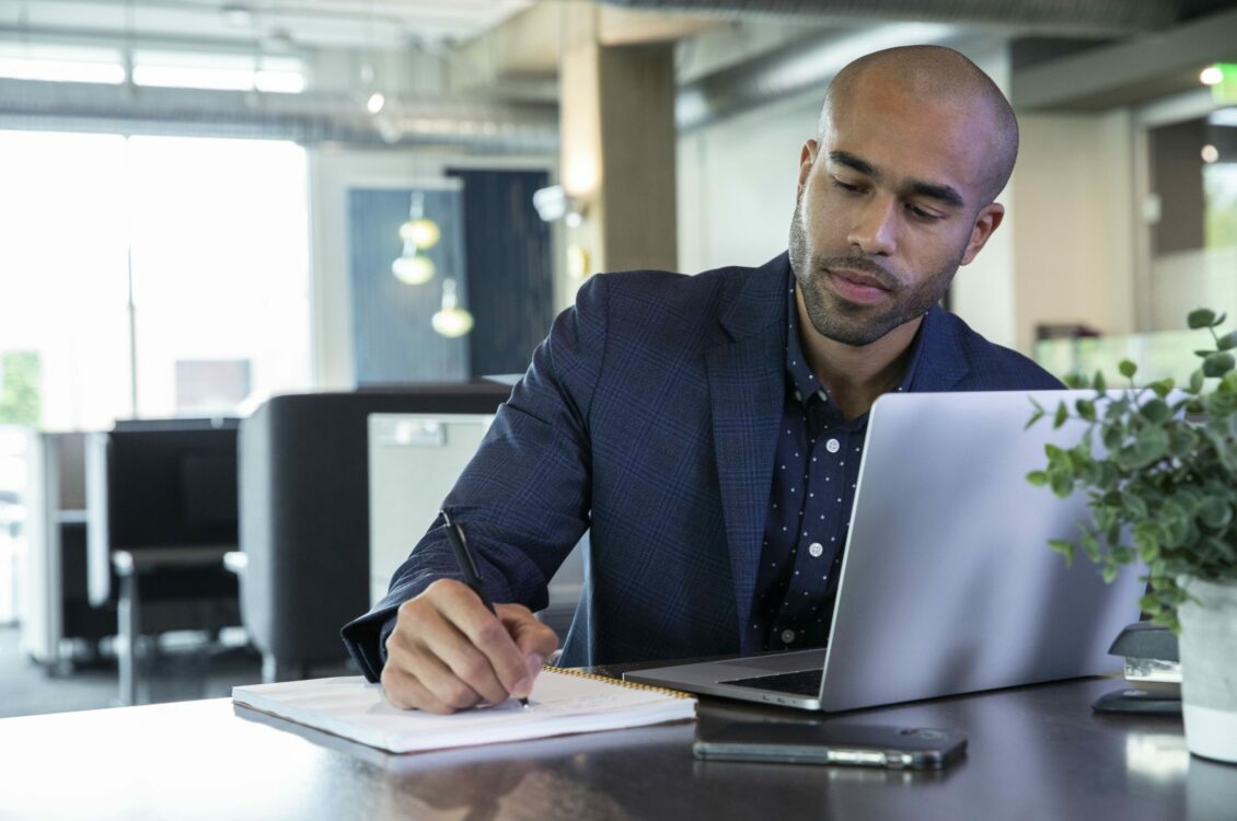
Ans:
<svg viewBox="0 0 1237 821"><path fill-rule="evenodd" d="M87 457L88 591L115 606L120 699L137 697L139 647L173 629L240 624L223 558L239 538L236 419L119 422Z"/></svg>

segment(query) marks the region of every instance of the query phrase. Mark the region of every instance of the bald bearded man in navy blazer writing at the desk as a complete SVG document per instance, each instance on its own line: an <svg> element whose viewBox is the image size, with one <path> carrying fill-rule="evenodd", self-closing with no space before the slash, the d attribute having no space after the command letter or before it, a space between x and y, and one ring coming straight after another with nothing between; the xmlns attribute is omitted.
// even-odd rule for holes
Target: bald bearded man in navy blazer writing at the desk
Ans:
<svg viewBox="0 0 1237 821"><path fill-rule="evenodd" d="M936 304L1001 225L1017 145L957 52L840 72L799 157L789 252L589 281L444 503L497 617L455 581L439 518L344 629L365 674L435 712L527 695L558 642L528 608L585 529L564 665L823 643L872 402L1060 387Z"/></svg>

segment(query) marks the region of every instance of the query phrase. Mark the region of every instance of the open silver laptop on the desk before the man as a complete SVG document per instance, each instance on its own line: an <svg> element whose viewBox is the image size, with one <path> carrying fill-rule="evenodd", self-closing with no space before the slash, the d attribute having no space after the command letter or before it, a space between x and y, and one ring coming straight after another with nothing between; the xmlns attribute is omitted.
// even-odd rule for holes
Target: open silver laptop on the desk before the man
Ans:
<svg viewBox="0 0 1237 821"><path fill-rule="evenodd" d="M1044 445L1082 424L1029 430L1092 391L889 393L872 406L825 648L646 669L623 678L703 695L840 711L1097 675L1138 621L1145 569L1105 584L1077 537L1086 497L1025 481Z"/></svg>

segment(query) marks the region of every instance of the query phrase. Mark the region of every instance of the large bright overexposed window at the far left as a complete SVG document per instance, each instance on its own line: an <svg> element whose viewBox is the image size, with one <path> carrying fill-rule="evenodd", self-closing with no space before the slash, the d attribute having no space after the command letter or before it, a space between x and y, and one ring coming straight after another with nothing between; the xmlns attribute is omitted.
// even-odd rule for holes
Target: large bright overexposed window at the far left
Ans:
<svg viewBox="0 0 1237 821"><path fill-rule="evenodd" d="M0 354L37 355L45 428L308 387L299 146L0 131Z"/></svg>

